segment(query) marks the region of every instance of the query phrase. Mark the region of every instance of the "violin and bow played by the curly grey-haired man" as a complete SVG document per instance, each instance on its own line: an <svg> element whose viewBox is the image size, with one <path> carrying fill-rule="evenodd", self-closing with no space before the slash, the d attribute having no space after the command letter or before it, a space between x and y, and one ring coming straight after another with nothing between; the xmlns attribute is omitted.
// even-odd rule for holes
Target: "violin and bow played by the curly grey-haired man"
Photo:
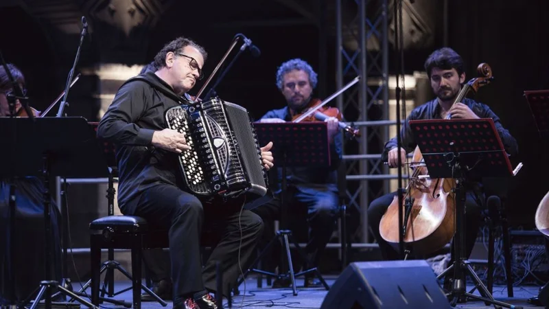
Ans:
<svg viewBox="0 0 549 309"><path fill-rule="evenodd" d="M307 108L302 113L292 116L292 122L314 122L314 121L324 121L329 117L336 117L338 119L338 125L351 137L360 137L360 131L358 128L353 128L349 124L342 122L342 115L338 108L328 107L326 104L340 95L343 91L349 89L353 84L357 83L360 80L360 76L355 77L351 82L346 84L342 89L336 91L334 94L330 95L326 100L321 101L320 99L313 99Z"/></svg>

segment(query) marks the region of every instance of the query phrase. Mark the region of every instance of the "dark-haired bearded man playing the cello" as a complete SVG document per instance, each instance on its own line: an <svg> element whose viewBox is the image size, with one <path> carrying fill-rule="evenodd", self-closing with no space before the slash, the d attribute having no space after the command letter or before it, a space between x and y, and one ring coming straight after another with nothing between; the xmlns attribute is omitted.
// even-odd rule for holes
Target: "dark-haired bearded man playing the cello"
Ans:
<svg viewBox="0 0 549 309"><path fill-rule="evenodd" d="M401 128L402 148L397 148L397 137L393 137L385 144L385 149L382 154L383 161L388 162L390 168L397 168L399 165L406 163L406 155L412 152L417 146L414 141L414 135L408 124L412 119L445 119L447 115L451 115L452 119L478 119L492 118L495 128L498 130L500 138L504 144L506 152L515 156L518 152L517 141L511 136L501 122L500 118L491 111L491 109L480 102L471 99L463 99L456 104L454 99L460 92L463 82L465 82L465 72L463 59L460 55L454 52L453 49L444 47L434 51L425 61L425 71L430 78L431 87L436 94L436 98L425 104L414 108L410 115L406 118ZM401 162L397 160L398 152L401 152ZM412 181L411 185L419 190L425 189L423 181ZM379 244L379 249L384 260L398 260L399 255L379 233L379 222L385 214L387 208L392 203L397 192L386 194L375 199L368 209L368 221L372 229L373 236ZM465 201L465 222L467 223L467 231L465 236L465 258L468 258L474 247L474 242L480 225L480 211L484 204L484 194L482 194L482 184L474 183L472 187L467 188L467 200ZM395 227L398 229L398 227ZM452 246L452 260L453 262ZM412 253L413 255L413 253ZM450 272L452 273L452 272Z"/></svg>

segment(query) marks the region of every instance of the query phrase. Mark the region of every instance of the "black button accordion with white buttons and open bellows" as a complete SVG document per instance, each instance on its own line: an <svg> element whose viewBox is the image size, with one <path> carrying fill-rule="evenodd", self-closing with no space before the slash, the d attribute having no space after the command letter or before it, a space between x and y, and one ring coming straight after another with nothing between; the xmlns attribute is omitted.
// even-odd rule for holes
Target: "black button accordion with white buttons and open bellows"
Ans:
<svg viewBox="0 0 549 309"><path fill-rule="evenodd" d="M264 196L267 172L246 108L212 98L174 106L165 113L168 128L185 134L190 150L178 155L189 190L200 196Z"/></svg>

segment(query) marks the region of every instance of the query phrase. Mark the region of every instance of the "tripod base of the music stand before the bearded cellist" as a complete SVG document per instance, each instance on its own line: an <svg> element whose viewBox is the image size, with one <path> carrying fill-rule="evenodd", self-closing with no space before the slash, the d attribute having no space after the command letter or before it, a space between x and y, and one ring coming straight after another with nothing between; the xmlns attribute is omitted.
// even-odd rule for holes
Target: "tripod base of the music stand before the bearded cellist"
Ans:
<svg viewBox="0 0 549 309"><path fill-rule="evenodd" d="M484 301L484 304L486 304L487 306L494 305L494 306L499 306L499 308L504 307L504 308L522 309L521 306L515 306L515 305L504 303L502 301L495 300L491 295L491 293L488 291L488 288L484 286L484 284L482 283L482 280L480 280L478 275L476 275L474 269L471 268L471 266L467 264L465 260L454 262L452 265L446 268L439 276L437 276L436 279L443 279L445 275L449 271L452 271L452 269L456 266L461 268L461 273L465 275L469 274L471 276L475 284L475 288L478 288L478 292L482 296L474 295L472 293L467 293L467 291L465 290L466 287L465 287L465 282L463 282L463 279L452 278L452 290L449 290L449 292L446 293L446 296L448 297L448 299L452 299L450 301L450 306L455 307L459 299L469 297L472 299Z"/></svg>

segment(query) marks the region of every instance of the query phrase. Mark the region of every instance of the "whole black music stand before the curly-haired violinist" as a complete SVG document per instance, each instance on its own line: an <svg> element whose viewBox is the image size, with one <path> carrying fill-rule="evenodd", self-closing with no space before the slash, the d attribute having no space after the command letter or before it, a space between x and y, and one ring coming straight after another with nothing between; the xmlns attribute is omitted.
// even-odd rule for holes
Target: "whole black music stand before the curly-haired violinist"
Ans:
<svg viewBox="0 0 549 309"><path fill-rule="evenodd" d="M250 271L261 273L270 277L277 277L278 279L287 279L288 276L292 282L292 290L294 296L297 295L295 277L305 275L307 273L316 273L320 282L326 290L329 290L328 284L320 274L320 271L315 266L303 270L299 273L294 273L292 265L292 255L290 254L290 241L293 242L296 249L301 255L301 258L305 261L306 265L311 265L311 262L307 258L307 255L303 249L299 246L299 243L292 238L292 231L286 226L288 222L288 207L285 205L288 201L285 196L287 191L286 183L286 168L288 167L325 167L329 166L329 144L328 144L328 132L325 123L254 123L255 130L257 132L257 139L259 144L265 145L269 141L272 141L272 156L276 161L281 162L282 168L282 180L281 180L281 220L280 229L277 231L277 235L266 245L265 249L255 261L248 267L242 278L238 282L238 286L242 284L246 275ZM280 158L280 159L279 159ZM259 263L261 259L269 253L272 244L276 241L281 241L284 249L285 256L281 257L281 264L279 266L279 273L269 273L255 269L254 267ZM284 254L283 254L284 255ZM286 263L288 262L288 264ZM286 271L288 269L289 271ZM288 273L287 273L288 272Z"/></svg>

